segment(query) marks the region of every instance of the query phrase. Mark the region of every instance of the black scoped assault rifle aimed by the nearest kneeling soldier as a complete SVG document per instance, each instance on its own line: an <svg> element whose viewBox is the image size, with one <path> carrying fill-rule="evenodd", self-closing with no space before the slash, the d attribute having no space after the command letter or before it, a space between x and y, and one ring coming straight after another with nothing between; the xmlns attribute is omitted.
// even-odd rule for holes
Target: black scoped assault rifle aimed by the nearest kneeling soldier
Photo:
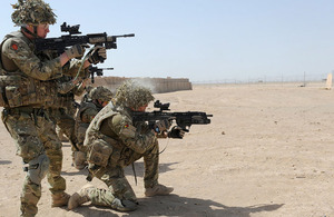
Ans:
<svg viewBox="0 0 334 217"><path fill-rule="evenodd" d="M203 111L181 111L181 112L167 112L165 110L169 109L170 103L161 103L159 100L155 101L154 107L159 108L153 112L134 111L134 122L137 121L148 121L149 126L155 126L157 120L173 119L176 125L180 127L184 131L189 131L191 125L208 125L213 115L206 115Z"/></svg>

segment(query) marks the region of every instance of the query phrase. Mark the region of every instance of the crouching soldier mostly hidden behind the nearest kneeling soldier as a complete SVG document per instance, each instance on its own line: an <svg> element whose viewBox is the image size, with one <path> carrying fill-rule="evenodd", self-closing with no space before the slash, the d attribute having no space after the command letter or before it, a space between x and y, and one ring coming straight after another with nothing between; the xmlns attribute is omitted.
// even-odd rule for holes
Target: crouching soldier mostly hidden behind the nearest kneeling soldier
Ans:
<svg viewBox="0 0 334 217"><path fill-rule="evenodd" d="M78 139L78 150L73 152L73 165L81 170L87 166L84 140L86 130L94 117L111 100L112 92L105 87L96 87L89 90L88 96L82 97L80 108L76 117L76 137Z"/></svg>

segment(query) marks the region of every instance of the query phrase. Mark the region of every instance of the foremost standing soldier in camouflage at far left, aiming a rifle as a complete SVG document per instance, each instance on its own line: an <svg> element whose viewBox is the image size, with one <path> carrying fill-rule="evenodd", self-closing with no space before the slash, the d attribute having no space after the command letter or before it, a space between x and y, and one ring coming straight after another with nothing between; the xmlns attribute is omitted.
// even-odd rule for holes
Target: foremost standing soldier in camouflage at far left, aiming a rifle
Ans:
<svg viewBox="0 0 334 217"><path fill-rule="evenodd" d="M41 197L41 180L48 176L52 207L67 205L66 180L60 176L61 142L46 107L58 93L55 79L76 73L85 48L73 46L60 56L35 51L36 38L46 38L56 16L42 0L19 0L13 4L12 21L19 31L4 37L0 46L0 106L2 121L13 138L27 176L21 193L20 216L36 216ZM71 63L69 63L71 62ZM90 63L85 62L84 68Z"/></svg>

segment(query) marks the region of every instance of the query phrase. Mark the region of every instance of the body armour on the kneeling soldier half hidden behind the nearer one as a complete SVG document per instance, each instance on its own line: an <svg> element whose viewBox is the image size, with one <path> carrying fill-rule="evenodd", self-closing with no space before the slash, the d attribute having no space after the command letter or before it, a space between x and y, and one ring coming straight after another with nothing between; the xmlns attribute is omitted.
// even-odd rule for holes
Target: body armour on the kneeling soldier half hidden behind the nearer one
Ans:
<svg viewBox="0 0 334 217"><path fill-rule="evenodd" d="M81 120L81 116L89 108L95 109L96 114L99 112L98 108L92 102L82 101L80 103L80 108L79 108L77 117L76 117L76 136L78 138L79 144L84 144L86 131L87 131L87 129L89 127L89 124L90 124L90 122L84 122Z"/></svg>

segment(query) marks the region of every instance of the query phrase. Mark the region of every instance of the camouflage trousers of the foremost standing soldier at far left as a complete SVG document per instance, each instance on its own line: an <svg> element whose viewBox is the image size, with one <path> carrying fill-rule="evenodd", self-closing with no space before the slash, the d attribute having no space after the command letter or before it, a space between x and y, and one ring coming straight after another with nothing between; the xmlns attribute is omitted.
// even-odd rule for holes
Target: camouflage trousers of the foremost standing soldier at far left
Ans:
<svg viewBox="0 0 334 217"><path fill-rule="evenodd" d="M3 109L2 121L13 138L17 155L24 164L46 154L50 160L47 174L51 194L60 194L66 189L66 180L60 176L62 164L61 142L59 141L55 125L48 114L36 108ZM41 197L41 185L32 183L28 176L23 181L21 191L21 216L35 216L37 204Z"/></svg>

